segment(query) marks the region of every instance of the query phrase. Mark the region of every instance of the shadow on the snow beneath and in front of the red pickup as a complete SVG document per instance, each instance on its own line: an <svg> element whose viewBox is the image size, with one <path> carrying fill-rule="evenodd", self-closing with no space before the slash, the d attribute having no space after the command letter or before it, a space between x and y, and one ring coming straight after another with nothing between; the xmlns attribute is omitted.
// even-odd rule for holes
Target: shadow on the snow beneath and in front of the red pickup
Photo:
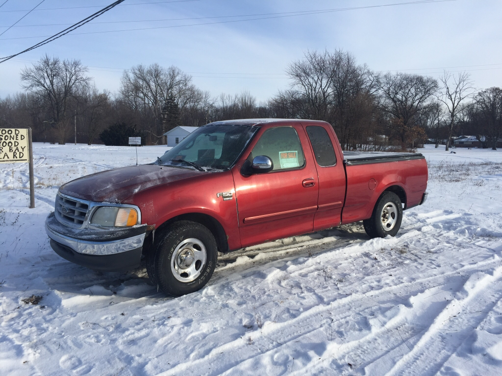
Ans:
<svg viewBox="0 0 502 376"><path fill-rule="evenodd" d="M354 223L219 254L216 270L207 286L214 286L232 274L260 268L270 262L309 258L368 239L362 223ZM43 280L49 290L57 291L60 296L86 295L92 297L92 300L101 301L98 305L139 298L174 298L166 296L152 285L144 263L140 268L127 273L103 273L59 259L57 255L53 256L50 257L53 262L47 268ZM72 304L65 305L69 308Z"/></svg>

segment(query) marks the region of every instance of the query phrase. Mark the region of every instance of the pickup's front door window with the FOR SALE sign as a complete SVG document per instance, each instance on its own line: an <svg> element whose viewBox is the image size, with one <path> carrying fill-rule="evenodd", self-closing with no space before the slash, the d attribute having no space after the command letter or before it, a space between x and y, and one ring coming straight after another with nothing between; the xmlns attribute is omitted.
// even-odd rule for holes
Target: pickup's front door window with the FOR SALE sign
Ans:
<svg viewBox="0 0 502 376"><path fill-rule="evenodd" d="M295 128L278 127L265 131L250 154L250 159L266 155L274 162L274 171L305 165L302 144Z"/></svg>

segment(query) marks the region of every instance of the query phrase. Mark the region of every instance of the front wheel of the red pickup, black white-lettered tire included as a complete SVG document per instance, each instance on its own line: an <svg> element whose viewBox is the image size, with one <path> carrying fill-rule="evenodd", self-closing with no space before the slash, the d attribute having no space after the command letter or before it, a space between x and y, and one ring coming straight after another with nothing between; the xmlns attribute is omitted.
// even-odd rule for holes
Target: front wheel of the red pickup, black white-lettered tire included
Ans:
<svg viewBox="0 0 502 376"><path fill-rule="evenodd" d="M214 236L205 226L191 221L175 222L159 234L153 251L147 254L148 276L166 294L190 294L209 281L217 255Z"/></svg>

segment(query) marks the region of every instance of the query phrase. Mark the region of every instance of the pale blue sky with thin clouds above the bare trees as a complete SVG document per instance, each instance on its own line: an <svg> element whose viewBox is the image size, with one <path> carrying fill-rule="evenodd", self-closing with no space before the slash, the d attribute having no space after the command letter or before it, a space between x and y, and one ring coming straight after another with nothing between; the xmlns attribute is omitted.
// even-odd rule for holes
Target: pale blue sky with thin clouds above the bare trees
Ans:
<svg viewBox="0 0 502 376"><path fill-rule="evenodd" d="M0 8L0 33L41 1L8 0ZM4 2L0 0L0 5ZM499 0L431 1L270 18L288 12L412 2L126 0L92 24L0 64L0 97L21 91L20 70L46 53L81 60L89 67L97 87L112 92L119 87L123 69L156 62L189 72L195 85L213 95L247 90L259 101L266 100L288 87L285 69L306 50L337 48L351 52L359 63L375 71L400 70L438 77L442 68L452 67L452 72L469 71L479 89L502 86ZM69 26L54 24L72 24L100 9L74 7L104 7L110 3L112 0L45 0L0 36L0 55L20 52ZM275 13L281 15L263 15ZM258 14L263 16L225 17ZM221 23L253 18L267 19ZM165 19L170 21L150 21ZM194 25L205 23L216 24ZM158 29L95 33L144 28Z"/></svg>

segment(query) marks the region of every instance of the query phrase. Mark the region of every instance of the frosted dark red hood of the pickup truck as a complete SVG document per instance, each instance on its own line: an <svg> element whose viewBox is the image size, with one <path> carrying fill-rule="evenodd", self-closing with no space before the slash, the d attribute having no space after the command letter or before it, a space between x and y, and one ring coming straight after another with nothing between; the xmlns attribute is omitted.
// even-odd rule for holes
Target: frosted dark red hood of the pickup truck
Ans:
<svg viewBox="0 0 502 376"><path fill-rule="evenodd" d="M142 164L101 171L61 185L64 195L94 202L120 203L154 185L171 183L210 172Z"/></svg>

